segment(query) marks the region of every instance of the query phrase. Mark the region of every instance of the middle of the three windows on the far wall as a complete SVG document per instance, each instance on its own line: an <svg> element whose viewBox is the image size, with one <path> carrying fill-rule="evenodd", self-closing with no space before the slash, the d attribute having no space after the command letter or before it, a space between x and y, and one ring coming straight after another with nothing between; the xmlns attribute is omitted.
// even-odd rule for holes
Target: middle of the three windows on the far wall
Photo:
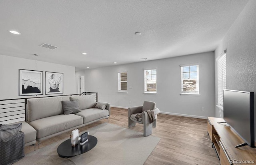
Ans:
<svg viewBox="0 0 256 165"><path fill-rule="evenodd" d="M156 69L144 70L144 92L156 93Z"/></svg>

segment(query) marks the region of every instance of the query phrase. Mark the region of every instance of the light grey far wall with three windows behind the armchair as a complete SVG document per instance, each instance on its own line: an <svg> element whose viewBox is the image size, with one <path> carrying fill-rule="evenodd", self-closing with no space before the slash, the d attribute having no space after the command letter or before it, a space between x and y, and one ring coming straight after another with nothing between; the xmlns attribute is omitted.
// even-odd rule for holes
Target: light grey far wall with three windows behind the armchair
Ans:
<svg viewBox="0 0 256 165"><path fill-rule="evenodd" d="M180 64L194 63L199 63L200 95L181 96ZM157 69L157 95L144 94L144 69L150 68ZM128 72L128 93L118 93L120 71ZM214 52L90 69L76 72L76 75L85 75L86 91L98 92L99 101L109 102L112 106L130 107L149 100L156 102L162 113L214 116Z"/></svg>

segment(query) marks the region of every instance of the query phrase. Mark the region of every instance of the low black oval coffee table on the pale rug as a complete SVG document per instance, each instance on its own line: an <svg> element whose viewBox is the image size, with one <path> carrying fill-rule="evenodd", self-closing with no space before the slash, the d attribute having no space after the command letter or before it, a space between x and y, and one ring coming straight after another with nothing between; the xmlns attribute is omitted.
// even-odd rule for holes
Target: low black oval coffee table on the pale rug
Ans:
<svg viewBox="0 0 256 165"><path fill-rule="evenodd" d="M96 137L92 135L88 135L88 142L84 145L80 145L80 141L75 147L71 146L71 139L68 139L61 143L57 149L57 153L59 157L74 157L76 155L80 155L87 151L90 151L93 147L96 146L98 140Z"/></svg>

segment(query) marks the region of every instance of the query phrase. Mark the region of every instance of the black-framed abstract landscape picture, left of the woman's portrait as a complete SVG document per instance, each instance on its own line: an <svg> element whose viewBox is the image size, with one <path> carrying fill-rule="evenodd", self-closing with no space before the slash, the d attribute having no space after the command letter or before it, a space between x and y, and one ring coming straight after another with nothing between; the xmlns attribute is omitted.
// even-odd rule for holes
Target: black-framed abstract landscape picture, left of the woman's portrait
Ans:
<svg viewBox="0 0 256 165"><path fill-rule="evenodd" d="M43 94L43 71L19 69L19 96Z"/></svg>

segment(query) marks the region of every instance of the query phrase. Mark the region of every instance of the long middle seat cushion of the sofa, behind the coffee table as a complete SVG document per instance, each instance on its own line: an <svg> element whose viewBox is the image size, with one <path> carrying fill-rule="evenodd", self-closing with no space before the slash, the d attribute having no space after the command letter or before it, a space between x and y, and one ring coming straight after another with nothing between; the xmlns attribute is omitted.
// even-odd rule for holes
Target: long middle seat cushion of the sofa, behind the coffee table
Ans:
<svg viewBox="0 0 256 165"><path fill-rule="evenodd" d="M37 131L36 138L40 139L54 133L76 127L83 123L83 117L70 115L55 115L30 122L30 125Z"/></svg>

